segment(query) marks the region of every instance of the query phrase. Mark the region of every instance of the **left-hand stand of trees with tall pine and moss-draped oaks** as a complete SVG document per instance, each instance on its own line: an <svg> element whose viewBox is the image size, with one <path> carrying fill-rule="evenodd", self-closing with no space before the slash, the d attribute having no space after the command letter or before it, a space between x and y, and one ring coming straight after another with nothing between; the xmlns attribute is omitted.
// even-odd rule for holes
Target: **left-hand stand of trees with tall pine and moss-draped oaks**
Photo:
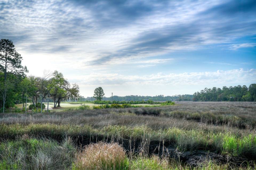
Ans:
<svg viewBox="0 0 256 170"><path fill-rule="evenodd" d="M27 112L27 103L32 102L36 107L40 100L41 113L43 101L47 100L47 112L49 101L54 101L54 107L60 107L61 101L78 99L79 86L70 84L63 74L54 71L44 71L42 77L27 76L27 67L21 65L21 54L17 53L12 41L1 39L0 41L0 108L11 109L15 104L22 104Z"/></svg>

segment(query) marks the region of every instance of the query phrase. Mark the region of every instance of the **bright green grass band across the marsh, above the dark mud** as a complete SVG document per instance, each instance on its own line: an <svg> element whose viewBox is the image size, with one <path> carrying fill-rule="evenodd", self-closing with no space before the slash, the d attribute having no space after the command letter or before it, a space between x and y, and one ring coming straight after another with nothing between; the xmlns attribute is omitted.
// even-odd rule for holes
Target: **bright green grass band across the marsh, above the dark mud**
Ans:
<svg viewBox="0 0 256 170"><path fill-rule="evenodd" d="M0 128L0 138L17 139L23 135L47 137L52 139L70 137L108 137L119 140L139 140L149 138L153 141L167 141L180 151L211 150L231 156L244 156L256 158L256 134L245 134L242 137L232 133L212 133L200 130L182 130L169 128L152 130L147 126L109 125L103 128L93 128L90 125L57 125L57 124L29 124L5 125ZM161 139L161 140L160 140Z"/></svg>

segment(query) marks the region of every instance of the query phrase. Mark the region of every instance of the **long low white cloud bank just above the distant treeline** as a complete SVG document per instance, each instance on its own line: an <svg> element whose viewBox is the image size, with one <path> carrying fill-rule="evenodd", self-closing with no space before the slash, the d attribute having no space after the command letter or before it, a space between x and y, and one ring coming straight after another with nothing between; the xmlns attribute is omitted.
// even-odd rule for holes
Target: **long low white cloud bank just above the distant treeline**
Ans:
<svg viewBox="0 0 256 170"><path fill-rule="evenodd" d="M203 84L230 84L256 81L256 69L244 70L217 70L215 72L191 72L179 74L151 74L151 75L121 75L121 74L99 74L93 73L87 76L74 75L69 80L78 80L84 86L95 86L104 84L105 86L126 85L203 85ZM72 80L72 81L73 81Z"/></svg>

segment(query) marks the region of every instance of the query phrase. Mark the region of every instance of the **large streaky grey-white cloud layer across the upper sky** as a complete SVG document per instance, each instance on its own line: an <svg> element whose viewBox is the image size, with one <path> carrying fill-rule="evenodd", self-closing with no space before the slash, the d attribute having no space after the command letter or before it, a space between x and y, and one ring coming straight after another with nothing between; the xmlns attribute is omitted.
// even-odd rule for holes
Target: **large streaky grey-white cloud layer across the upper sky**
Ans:
<svg viewBox="0 0 256 170"><path fill-rule="evenodd" d="M253 0L3 1L0 36L24 53L113 65L255 35L255 10Z"/></svg>

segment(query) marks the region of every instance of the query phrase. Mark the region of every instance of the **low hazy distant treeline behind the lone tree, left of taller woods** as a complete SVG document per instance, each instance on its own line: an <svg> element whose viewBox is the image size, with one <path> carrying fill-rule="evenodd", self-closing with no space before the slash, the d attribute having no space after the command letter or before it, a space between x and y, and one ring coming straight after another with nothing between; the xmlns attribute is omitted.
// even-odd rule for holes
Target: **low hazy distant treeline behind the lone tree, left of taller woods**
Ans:
<svg viewBox="0 0 256 170"><path fill-rule="evenodd" d="M138 95L130 95L130 96L113 96L113 101L142 101L142 100L152 100L152 101L192 101L193 95L174 95L174 96L138 96ZM80 97L79 101L94 101L94 97ZM103 97L102 100L112 101L111 97Z"/></svg>

